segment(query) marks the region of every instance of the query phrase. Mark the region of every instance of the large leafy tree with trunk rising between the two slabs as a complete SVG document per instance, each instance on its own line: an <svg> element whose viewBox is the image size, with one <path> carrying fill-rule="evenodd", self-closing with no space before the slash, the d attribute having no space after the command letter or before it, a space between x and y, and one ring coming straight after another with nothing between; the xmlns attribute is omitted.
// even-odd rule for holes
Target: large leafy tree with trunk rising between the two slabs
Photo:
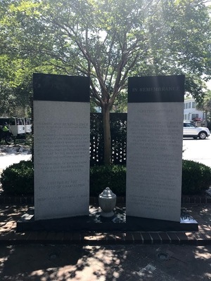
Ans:
<svg viewBox="0 0 211 281"><path fill-rule="evenodd" d="M197 81L211 69L205 2L5 0L1 52L32 58L54 73L91 77L91 98L103 113L108 164L109 114L129 75L186 74L186 90L203 94Z"/></svg>

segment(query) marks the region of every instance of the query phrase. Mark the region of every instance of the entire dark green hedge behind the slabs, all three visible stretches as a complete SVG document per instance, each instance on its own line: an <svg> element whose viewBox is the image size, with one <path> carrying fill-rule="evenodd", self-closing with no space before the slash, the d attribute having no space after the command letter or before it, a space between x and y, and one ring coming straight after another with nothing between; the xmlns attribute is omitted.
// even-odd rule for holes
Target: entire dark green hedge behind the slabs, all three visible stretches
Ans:
<svg viewBox="0 0 211 281"><path fill-rule="evenodd" d="M34 170L32 161L21 161L6 168L0 182L4 192L13 195L27 195L34 191ZM92 166L90 168L90 195L98 196L106 187L117 196L124 196L126 190L126 167L123 165ZM211 168L189 160L182 164L182 194L197 194L211 186Z"/></svg>

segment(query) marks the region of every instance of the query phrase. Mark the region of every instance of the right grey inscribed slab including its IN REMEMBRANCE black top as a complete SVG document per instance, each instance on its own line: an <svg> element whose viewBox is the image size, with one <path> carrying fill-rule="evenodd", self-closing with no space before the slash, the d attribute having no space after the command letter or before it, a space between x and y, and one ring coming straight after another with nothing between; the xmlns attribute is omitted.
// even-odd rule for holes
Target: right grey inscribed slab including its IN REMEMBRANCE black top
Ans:
<svg viewBox="0 0 211 281"><path fill-rule="evenodd" d="M180 221L184 76L129 78L127 216Z"/></svg>

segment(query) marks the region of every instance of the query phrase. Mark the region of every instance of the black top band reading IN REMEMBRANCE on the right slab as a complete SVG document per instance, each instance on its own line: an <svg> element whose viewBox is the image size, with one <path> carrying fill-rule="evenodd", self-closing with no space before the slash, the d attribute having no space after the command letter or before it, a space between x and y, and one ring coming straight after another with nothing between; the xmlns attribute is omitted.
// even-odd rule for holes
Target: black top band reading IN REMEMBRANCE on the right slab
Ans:
<svg viewBox="0 0 211 281"><path fill-rule="evenodd" d="M184 75L129 77L128 103L184 102Z"/></svg>

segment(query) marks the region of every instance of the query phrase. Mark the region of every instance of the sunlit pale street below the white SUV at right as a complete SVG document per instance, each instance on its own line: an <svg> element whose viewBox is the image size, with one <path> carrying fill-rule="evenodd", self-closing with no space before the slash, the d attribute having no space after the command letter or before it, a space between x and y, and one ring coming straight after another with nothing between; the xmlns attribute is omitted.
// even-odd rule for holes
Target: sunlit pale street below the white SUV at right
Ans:
<svg viewBox="0 0 211 281"><path fill-rule="evenodd" d="M205 140L184 138L183 159L193 160L211 167L211 136Z"/></svg>

